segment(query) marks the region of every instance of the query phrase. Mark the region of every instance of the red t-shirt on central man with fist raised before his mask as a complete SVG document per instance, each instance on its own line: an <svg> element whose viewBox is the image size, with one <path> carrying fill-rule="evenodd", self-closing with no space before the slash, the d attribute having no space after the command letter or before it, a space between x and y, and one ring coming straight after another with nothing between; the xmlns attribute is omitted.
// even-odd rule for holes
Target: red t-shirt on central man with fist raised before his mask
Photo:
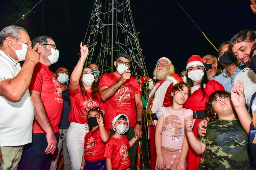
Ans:
<svg viewBox="0 0 256 170"><path fill-rule="evenodd" d="M100 87L110 87L116 81L118 77L114 72L105 73L100 78ZM112 121L117 112L122 112L129 118L129 124L135 126L136 124L136 105L134 101L134 95L141 94L138 81L131 76L130 79L123 83L123 86L117 90L116 94L105 101L105 127L112 129Z"/></svg>

